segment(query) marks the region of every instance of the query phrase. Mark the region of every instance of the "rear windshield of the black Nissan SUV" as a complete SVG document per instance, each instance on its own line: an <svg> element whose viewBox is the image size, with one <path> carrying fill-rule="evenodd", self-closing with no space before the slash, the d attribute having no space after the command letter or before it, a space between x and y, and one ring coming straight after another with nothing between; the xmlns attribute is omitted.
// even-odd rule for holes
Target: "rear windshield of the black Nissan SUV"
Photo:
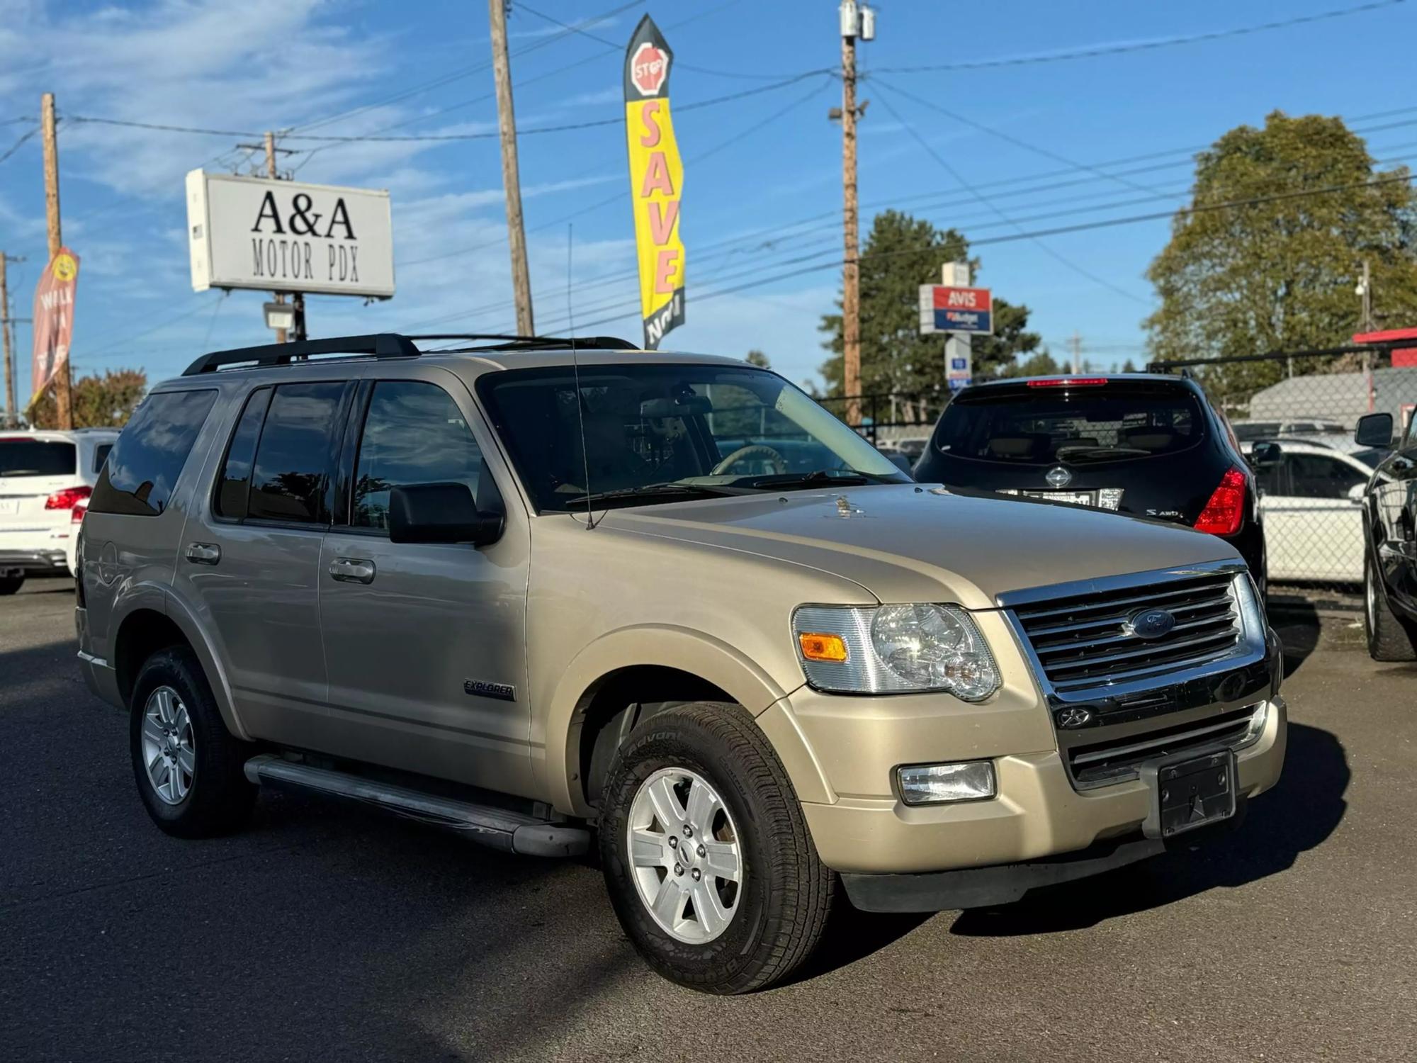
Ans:
<svg viewBox="0 0 1417 1063"><path fill-rule="evenodd" d="M945 407L934 445L947 458L1050 465L1175 454L1203 434L1200 401L1179 387L981 388Z"/></svg>

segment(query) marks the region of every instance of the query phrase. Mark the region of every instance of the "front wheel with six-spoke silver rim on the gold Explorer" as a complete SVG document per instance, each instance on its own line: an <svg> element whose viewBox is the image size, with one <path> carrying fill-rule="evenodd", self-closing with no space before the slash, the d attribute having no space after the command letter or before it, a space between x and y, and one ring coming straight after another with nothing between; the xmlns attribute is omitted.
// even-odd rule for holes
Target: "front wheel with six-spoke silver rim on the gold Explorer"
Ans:
<svg viewBox="0 0 1417 1063"><path fill-rule="evenodd" d="M602 792L599 846L621 926L673 982L761 989L822 937L835 876L738 706L684 704L631 731Z"/></svg>

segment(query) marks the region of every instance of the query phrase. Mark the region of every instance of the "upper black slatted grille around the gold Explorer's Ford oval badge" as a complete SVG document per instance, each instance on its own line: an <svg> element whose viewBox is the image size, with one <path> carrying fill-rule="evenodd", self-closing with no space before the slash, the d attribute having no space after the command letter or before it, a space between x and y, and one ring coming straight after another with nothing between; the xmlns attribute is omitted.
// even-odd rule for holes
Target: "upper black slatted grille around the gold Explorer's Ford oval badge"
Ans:
<svg viewBox="0 0 1417 1063"><path fill-rule="evenodd" d="M1233 573L1187 575L1151 587L1080 594L1015 608L1019 626L1054 690L1083 690L1206 665L1240 641ZM1176 618L1161 638L1132 634L1142 609Z"/></svg>

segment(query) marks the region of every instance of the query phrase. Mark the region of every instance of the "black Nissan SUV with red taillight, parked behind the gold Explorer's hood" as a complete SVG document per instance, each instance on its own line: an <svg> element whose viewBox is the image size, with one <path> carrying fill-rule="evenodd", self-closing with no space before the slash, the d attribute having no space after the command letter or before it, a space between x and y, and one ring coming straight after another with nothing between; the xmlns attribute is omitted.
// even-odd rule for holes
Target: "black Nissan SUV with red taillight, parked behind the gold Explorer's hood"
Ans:
<svg viewBox="0 0 1417 1063"><path fill-rule="evenodd" d="M1254 473L1229 421L1189 377L1030 377L966 387L941 414L915 479L1189 524L1234 546L1261 598L1265 591Z"/></svg>

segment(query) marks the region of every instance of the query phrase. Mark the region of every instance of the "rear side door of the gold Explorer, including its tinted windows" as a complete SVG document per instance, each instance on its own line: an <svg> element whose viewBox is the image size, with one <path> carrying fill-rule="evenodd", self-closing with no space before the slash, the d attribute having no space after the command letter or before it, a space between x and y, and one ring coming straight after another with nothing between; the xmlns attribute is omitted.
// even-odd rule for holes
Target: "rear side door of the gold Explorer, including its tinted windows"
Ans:
<svg viewBox="0 0 1417 1063"><path fill-rule="evenodd" d="M326 733L320 546L353 391L344 378L252 388L177 557L247 729L295 746L317 748Z"/></svg>

